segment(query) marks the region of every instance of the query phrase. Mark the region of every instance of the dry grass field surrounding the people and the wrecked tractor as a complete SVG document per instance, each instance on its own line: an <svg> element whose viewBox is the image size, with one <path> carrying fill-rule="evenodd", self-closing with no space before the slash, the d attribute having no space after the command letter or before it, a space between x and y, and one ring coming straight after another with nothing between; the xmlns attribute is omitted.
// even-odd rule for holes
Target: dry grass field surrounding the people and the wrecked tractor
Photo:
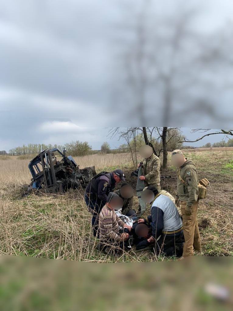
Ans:
<svg viewBox="0 0 233 311"><path fill-rule="evenodd" d="M202 255L233 254L233 151L187 151L196 163L199 178L211 182L208 197L200 201L198 223ZM75 158L80 167L95 165L97 172L120 167L133 186L130 157L127 154L91 155ZM155 254L123 253L103 255L92 236L91 215L83 201L83 189L65 195L21 197L21 185L29 184L29 160L0 157L0 254L88 262L141 262L171 260ZM162 188L175 194L175 169L170 164L161 175L171 175ZM137 208L137 199L135 204ZM146 213L149 213L148 207ZM145 214L146 214L145 213Z"/></svg>

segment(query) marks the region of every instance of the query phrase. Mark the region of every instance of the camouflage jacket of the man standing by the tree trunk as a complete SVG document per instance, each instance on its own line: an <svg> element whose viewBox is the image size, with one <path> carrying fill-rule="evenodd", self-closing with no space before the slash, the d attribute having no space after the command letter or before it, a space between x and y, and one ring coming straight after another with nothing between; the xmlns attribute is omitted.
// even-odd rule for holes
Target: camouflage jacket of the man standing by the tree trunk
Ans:
<svg viewBox="0 0 233 311"><path fill-rule="evenodd" d="M148 185L160 183L160 160L154 153L143 160L142 171Z"/></svg>

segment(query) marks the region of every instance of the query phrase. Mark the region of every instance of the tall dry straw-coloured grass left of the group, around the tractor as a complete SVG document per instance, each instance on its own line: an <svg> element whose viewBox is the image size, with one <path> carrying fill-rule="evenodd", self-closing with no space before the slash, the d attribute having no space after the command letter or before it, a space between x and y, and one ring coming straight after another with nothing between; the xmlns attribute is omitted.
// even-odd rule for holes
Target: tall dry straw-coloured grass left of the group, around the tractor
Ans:
<svg viewBox="0 0 233 311"><path fill-rule="evenodd" d="M97 170L130 166L126 154L75 157L80 168ZM28 160L0 160L0 254L78 261L141 261L135 253L120 257L96 250L91 214L83 200L83 189L64 195L20 196L20 185L28 184ZM152 260L152 259L151 259Z"/></svg>

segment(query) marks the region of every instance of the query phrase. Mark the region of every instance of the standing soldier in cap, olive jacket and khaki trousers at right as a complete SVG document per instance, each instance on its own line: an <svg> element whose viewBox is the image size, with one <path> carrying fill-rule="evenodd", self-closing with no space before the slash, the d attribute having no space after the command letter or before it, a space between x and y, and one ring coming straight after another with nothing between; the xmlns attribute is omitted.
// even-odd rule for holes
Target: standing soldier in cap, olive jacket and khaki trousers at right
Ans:
<svg viewBox="0 0 233 311"><path fill-rule="evenodd" d="M183 257L193 256L193 249L201 252L197 224L198 174L195 164L184 157L181 150L172 152L172 164L177 167L177 201L181 203L183 218Z"/></svg>

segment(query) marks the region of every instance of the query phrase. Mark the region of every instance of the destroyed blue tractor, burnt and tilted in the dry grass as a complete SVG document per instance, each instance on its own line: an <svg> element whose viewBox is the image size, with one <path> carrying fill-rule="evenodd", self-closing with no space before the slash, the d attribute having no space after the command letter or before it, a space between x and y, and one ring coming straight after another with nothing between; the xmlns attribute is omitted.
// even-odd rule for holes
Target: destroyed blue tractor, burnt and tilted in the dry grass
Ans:
<svg viewBox="0 0 233 311"><path fill-rule="evenodd" d="M40 152L28 165L32 179L25 188L25 194L31 192L64 193L67 189L85 188L96 175L95 167L80 169L72 156L66 156L57 148Z"/></svg>

